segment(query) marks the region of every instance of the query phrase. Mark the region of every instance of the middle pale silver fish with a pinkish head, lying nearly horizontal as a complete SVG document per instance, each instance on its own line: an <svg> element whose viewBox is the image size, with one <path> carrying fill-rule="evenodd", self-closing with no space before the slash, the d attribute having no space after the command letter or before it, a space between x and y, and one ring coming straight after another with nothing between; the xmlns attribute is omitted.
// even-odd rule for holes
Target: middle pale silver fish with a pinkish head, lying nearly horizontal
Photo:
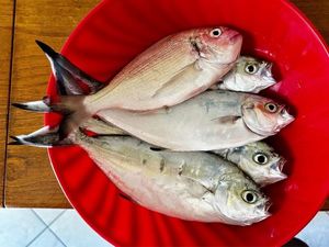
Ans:
<svg viewBox="0 0 329 247"><path fill-rule="evenodd" d="M30 108L29 103L23 105ZM48 106L47 111L56 109ZM243 146L274 135L294 121L284 104L226 90L205 91L178 105L150 112L111 109L97 115L147 143L180 151Z"/></svg>

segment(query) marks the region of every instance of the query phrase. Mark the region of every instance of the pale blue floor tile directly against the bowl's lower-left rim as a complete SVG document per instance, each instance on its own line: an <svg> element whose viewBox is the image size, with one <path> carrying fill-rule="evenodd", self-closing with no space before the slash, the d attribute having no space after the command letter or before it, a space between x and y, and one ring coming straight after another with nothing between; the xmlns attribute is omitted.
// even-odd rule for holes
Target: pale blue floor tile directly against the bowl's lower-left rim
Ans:
<svg viewBox="0 0 329 247"><path fill-rule="evenodd" d="M67 247L111 247L75 210L67 210L50 226Z"/></svg>

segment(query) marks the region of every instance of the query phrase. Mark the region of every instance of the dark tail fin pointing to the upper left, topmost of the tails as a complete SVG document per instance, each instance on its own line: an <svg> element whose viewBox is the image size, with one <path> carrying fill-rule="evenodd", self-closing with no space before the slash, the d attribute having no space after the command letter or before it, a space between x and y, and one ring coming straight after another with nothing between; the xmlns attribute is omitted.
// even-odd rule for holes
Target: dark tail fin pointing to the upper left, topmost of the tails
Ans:
<svg viewBox="0 0 329 247"><path fill-rule="evenodd" d="M52 71L56 78L58 93L61 96L81 96L83 90L79 82L84 83L90 93L101 90L105 83L92 78L75 66L69 59L56 53L50 46L41 41L35 41L45 53L52 65Z"/></svg>

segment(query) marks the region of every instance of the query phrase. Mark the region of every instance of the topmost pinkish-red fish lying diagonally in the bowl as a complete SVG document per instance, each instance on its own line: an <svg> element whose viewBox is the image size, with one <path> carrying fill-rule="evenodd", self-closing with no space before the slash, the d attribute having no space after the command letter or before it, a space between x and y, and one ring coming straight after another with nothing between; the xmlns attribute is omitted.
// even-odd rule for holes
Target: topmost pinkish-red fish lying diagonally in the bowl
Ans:
<svg viewBox="0 0 329 247"><path fill-rule="evenodd" d="M66 65L64 56L46 44L37 44L50 60L56 78L64 82L73 80L72 64ZM104 109L150 111L197 96L230 70L239 57L241 44L241 34L225 26L182 31L160 40L95 93L81 96L73 89L79 97L67 94L61 96L59 102L52 101L53 108L69 112L61 124L63 135ZM64 71L66 76L60 76Z"/></svg>

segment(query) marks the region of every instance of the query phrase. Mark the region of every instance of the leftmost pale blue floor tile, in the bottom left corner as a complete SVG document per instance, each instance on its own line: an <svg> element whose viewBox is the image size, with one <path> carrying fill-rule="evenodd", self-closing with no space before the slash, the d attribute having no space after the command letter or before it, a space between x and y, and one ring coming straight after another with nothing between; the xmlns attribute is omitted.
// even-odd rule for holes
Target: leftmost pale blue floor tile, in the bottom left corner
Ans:
<svg viewBox="0 0 329 247"><path fill-rule="evenodd" d="M45 227L30 209L0 210L0 246L26 246Z"/></svg>

